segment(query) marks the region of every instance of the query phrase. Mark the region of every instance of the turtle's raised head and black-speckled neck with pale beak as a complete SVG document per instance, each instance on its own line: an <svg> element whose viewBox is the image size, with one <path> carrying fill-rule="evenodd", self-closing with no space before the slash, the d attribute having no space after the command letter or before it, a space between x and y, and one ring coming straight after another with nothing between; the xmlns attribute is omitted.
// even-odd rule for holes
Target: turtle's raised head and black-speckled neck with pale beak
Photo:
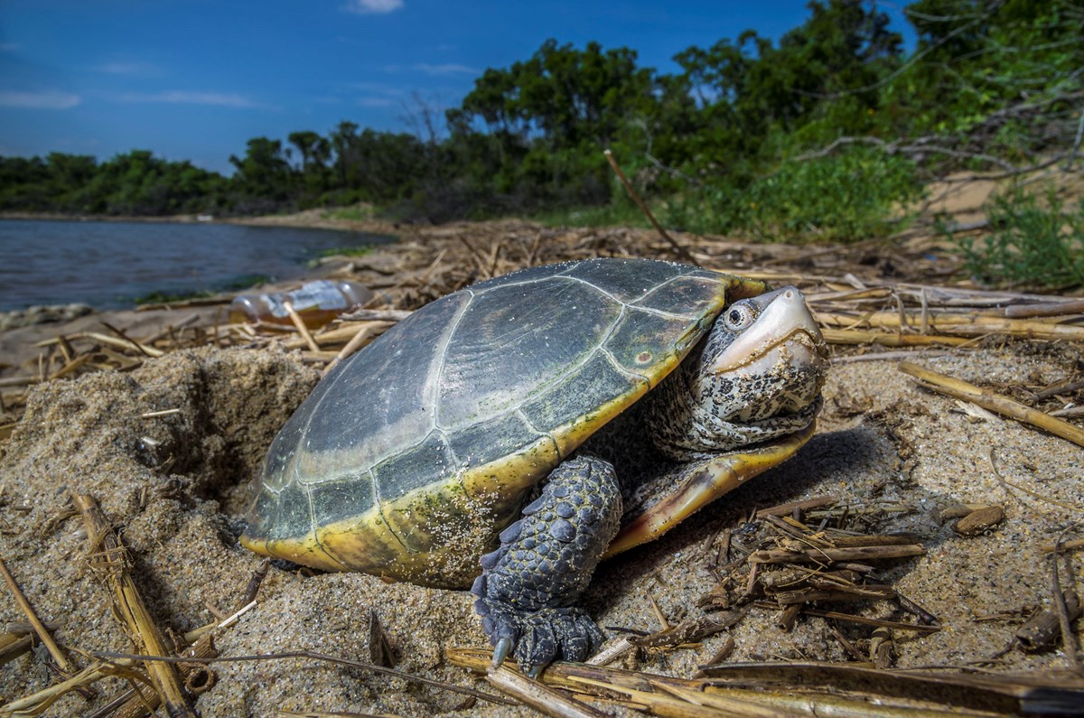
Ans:
<svg viewBox="0 0 1084 718"><path fill-rule="evenodd" d="M820 411L827 368L824 337L796 287L735 302L679 376L653 393L656 445L686 460L803 431Z"/></svg>

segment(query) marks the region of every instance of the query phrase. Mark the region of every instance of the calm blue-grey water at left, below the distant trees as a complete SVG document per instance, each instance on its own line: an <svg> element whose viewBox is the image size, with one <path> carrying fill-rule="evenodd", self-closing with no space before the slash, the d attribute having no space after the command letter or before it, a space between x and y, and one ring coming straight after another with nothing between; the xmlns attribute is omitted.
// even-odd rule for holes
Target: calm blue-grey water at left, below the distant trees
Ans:
<svg viewBox="0 0 1084 718"><path fill-rule="evenodd" d="M3 220L0 311L77 302L122 309L153 292L218 292L254 274L293 279L322 249L389 241L291 227Z"/></svg>

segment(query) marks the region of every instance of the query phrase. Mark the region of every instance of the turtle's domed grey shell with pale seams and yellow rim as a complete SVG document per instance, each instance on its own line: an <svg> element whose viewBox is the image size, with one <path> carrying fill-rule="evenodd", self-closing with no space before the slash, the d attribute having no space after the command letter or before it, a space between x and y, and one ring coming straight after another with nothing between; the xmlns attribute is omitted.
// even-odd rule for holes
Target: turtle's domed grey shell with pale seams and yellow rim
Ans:
<svg viewBox="0 0 1084 718"><path fill-rule="evenodd" d="M684 265L589 259L442 297L328 374L271 445L242 543L441 587L565 457L766 286Z"/></svg>

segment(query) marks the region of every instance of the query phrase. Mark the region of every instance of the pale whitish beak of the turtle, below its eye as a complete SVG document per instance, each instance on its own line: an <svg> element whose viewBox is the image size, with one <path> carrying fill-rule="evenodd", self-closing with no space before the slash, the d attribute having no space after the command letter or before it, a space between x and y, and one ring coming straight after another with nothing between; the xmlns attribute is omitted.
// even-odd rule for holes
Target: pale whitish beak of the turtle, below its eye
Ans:
<svg viewBox="0 0 1084 718"><path fill-rule="evenodd" d="M785 286L748 302L759 310L757 320L715 357L712 371L756 370L758 364L786 360L824 373L828 346L798 287Z"/></svg>

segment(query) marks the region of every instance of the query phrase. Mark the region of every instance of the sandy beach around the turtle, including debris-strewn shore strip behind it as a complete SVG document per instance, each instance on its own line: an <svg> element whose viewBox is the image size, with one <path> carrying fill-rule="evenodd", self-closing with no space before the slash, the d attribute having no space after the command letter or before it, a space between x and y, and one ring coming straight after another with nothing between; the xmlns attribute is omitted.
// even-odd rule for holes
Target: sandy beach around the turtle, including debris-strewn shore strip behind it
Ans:
<svg viewBox="0 0 1084 718"><path fill-rule="evenodd" d="M552 230L512 221L365 229L401 239L337 265L335 271L370 284L388 306L400 309L414 309L449 286L525 261L619 253L660 257L669 252L642 230ZM466 259L448 264L455 252ZM836 286L824 279L829 274L851 272L870 286L920 281L927 271L921 262L933 261L922 259L930 255L929 244L915 240L906 252L912 258L903 277L885 270L886 258L903 255L874 245L817 254L808 247L754 247L718 239L696 256L713 269L806 278L806 293L823 294ZM864 261L867 256L869 262ZM93 313L8 330L0 333L0 362L7 364L0 377L33 373L42 351L35 343L95 331L103 319L129 336L146 337L192 313L197 315L193 323L204 328L224 321L219 305ZM906 534L922 548L921 555L876 565L878 584L920 605L940 628L893 631L894 666L973 666L998 672L1072 667L1066 649L1024 651L1015 633L1036 611L1053 605L1054 561L1043 546L1067 531L1080 538L1084 448L919 387L900 371L898 350L843 344L834 344L834 350L818 434L797 459L724 497L661 540L603 564L585 605L610 641L625 629L659 630L653 602L672 623L718 613L720 607L705 597L718 593L721 566L740 555L735 544L731 559L720 559L725 537L756 529L758 522L748 522L758 509L830 496L848 508L850 529ZM857 360L857 355L864 357ZM1084 342L990 333L962 347L914 349L906 359L1025 398L1079 381ZM79 515L70 511L70 496L93 496L119 529L136 586L164 633L180 637L215 621L216 615L233 613L261 563L236 541L248 483L279 427L319 381L321 367L284 341L208 341L143 357L129 371L74 372L44 382L28 390L25 410L22 399L12 399L15 389L5 389L7 416L17 423L0 443L0 556L38 616L59 624L54 637L73 664L91 663L83 652L130 652L132 642L114 616L101 569L88 563L91 548ZM1062 403L1080 401L1079 390L1055 392L1043 408L1059 408L1058 396ZM1074 421L1079 426L1080 420ZM953 530L955 518L943 515L958 504L998 505L1004 520L960 535ZM1063 561L1059 575L1063 588L1084 591L1079 556ZM916 620L893 601L822 607ZM837 631L863 648L873 631L809 615L786 631L778 612L757 602L740 608L745 613L728 631L689 648L644 652L635 666L688 678L728 639L734 641L726 657L731 663L854 661ZM387 636L397 670L495 692L482 677L444 656L452 646L486 646L466 592L387 584L365 575L271 567L256 605L231 627L218 629L215 646L222 656L313 651L371 662L373 617ZM25 619L11 600L0 603L0 618ZM1073 626L1079 637L1080 621ZM280 710L537 715L527 707L304 658L218 663L211 671L214 685L194 700L204 716ZM51 680L42 654L27 653L0 668L0 700L30 695ZM108 679L96 684L94 697L65 695L46 715L90 715L128 688L119 678ZM595 705L610 715L634 715Z"/></svg>

